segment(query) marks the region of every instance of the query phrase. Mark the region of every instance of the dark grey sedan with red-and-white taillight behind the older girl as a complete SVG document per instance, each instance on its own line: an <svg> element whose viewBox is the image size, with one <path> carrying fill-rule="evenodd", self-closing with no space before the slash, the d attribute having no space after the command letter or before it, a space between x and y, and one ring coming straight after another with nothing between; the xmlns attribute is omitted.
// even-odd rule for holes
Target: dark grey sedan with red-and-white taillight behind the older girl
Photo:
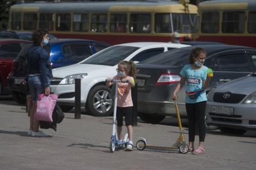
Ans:
<svg viewBox="0 0 256 170"><path fill-rule="evenodd" d="M180 81L179 73L189 63L189 54L195 47L203 47L207 52L204 63L212 68L214 76L210 88L256 70L256 49L231 45L201 45L174 49L136 64L138 74L138 112L141 120L158 123L165 116L175 117L172 92ZM207 89L207 91L210 90ZM178 108L181 117L186 117L185 86L178 93Z"/></svg>

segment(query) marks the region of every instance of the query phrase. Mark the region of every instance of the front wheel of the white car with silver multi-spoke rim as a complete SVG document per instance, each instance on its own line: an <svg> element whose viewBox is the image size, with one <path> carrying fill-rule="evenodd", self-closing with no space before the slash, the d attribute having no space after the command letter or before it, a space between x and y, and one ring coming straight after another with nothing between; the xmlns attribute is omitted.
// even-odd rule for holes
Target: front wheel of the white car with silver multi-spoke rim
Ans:
<svg viewBox="0 0 256 170"><path fill-rule="evenodd" d="M111 88L99 85L91 89L85 109L96 117L108 116L112 112Z"/></svg>

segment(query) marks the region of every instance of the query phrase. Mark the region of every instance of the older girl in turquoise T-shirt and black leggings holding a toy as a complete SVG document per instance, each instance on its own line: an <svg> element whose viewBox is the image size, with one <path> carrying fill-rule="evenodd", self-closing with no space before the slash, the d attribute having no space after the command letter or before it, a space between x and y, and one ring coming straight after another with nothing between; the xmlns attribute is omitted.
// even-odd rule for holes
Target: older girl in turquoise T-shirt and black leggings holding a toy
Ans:
<svg viewBox="0 0 256 170"><path fill-rule="evenodd" d="M205 112L206 91L209 87L212 71L204 66L206 51L200 47L193 49L189 56L189 64L180 71L181 79L173 93L173 100L177 100L177 93L186 82L186 112L189 122L189 151L192 154L204 153L204 138L206 137ZM199 130L199 145L194 150L196 123Z"/></svg>

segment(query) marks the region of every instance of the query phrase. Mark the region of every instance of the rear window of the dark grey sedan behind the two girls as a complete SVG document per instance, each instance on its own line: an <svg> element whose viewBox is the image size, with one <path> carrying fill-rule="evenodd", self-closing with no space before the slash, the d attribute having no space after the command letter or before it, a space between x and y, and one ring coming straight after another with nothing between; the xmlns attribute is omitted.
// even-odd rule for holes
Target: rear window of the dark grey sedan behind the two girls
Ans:
<svg viewBox="0 0 256 170"><path fill-rule="evenodd" d="M153 56L152 58L145 59L139 62L139 64L157 64L157 65L171 65L180 66L187 64L189 61L190 50L187 49L173 49L169 52L161 53Z"/></svg>

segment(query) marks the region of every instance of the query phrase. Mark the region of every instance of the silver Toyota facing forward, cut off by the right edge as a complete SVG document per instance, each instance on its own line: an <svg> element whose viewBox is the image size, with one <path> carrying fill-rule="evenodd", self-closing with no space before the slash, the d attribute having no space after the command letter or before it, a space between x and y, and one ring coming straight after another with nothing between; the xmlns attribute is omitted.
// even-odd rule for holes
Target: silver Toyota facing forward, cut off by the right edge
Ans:
<svg viewBox="0 0 256 170"><path fill-rule="evenodd" d="M256 54L254 54L256 62ZM206 117L221 132L256 130L256 72L224 83L207 94Z"/></svg>

